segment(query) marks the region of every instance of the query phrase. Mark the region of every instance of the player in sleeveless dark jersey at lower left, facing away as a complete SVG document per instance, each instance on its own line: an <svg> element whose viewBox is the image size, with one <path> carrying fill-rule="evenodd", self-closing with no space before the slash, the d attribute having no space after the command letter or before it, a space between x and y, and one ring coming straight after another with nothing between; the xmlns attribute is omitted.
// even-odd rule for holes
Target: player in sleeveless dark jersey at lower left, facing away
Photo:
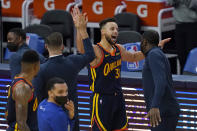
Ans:
<svg viewBox="0 0 197 131"><path fill-rule="evenodd" d="M38 131L38 101L32 86L32 79L40 69L38 54L33 50L24 53L21 72L9 88L7 105L7 131Z"/></svg>

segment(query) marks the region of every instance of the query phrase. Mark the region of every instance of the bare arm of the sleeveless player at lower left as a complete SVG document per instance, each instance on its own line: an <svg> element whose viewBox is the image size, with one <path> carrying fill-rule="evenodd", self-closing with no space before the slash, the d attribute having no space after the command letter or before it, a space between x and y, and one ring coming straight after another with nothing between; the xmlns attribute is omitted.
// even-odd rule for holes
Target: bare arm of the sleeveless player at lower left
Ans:
<svg viewBox="0 0 197 131"><path fill-rule="evenodd" d="M28 100L31 98L32 90L30 87L20 82L13 90L13 99L16 104L16 122L18 124L18 129L21 131L30 131L26 121L28 113Z"/></svg>

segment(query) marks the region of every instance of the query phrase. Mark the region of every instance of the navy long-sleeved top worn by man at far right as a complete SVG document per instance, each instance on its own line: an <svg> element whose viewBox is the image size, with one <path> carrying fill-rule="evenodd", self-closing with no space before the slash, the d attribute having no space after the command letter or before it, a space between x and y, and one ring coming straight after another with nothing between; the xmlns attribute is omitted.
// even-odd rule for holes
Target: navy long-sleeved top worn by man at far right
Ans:
<svg viewBox="0 0 197 131"><path fill-rule="evenodd" d="M147 111L159 108L162 115L179 112L170 64L160 48L153 47L146 54L142 81Z"/></svg>

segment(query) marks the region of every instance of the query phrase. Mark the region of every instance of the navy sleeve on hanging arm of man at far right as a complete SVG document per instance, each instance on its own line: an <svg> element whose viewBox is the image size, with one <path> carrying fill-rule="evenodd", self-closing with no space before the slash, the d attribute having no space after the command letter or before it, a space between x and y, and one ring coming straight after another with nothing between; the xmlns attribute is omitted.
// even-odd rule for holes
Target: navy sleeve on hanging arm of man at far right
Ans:
<svg viewBox="0 0 197 131"><path fill-rule="evenodd" d="M167 83L165 58L157 52L151 52L148 61L155 85L151 108L159 108Z"/></svg>

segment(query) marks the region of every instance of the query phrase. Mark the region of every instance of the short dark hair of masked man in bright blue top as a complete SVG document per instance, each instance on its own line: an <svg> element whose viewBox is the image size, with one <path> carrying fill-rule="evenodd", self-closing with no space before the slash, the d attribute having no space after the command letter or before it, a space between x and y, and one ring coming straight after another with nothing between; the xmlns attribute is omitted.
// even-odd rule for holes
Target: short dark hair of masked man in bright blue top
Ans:
<svg viewBox="0 0 197 131"><path fill-rule="evenodd" d="M47 91L54 89L55 84L64 84L64 83L66 83L64 79L59 78L59 77L53 77L49 79L47 82L47 85L46 85Z"/></svg>

